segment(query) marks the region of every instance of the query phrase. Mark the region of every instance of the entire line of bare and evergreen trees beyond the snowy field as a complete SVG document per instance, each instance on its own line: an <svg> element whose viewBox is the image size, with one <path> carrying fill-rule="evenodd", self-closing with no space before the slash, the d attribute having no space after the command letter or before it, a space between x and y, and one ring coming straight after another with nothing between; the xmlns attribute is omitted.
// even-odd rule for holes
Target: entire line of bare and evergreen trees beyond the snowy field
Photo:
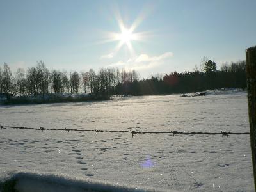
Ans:
<svg viewBox="0 0 256 192"><path fill-rule="evenodd" d="M0 95L7 99L13 95L45 95L49 93L90 93L100 97L111 95L158 95L190 93L215 88L246 88L245 61L224 63L216 70L216 63L205 60L202 70L194 72L172 72L140 79L135 70L100 68L99 72L49 71L43 61L26 71L19 68L13 76L4 63L0 67Z"/></svg>

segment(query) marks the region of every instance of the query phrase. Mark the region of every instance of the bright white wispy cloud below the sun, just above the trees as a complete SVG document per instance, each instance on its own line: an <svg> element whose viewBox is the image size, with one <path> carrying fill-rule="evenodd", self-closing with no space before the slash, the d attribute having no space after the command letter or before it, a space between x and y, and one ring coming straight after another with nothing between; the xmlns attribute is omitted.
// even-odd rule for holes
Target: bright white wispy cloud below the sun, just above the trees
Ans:
<svg viewBox="0 0 256 192"><path fill-rule="evenodd" d="M112 63L109 65L109 67L121 67L127 70L144 70L162 65L164 61L172 58L172 56L172 52L165 52L159 56L152 57L148 56L147 54L140 54L140 56L136 58L130 58L127 61L118 61L116 63Z"/></svg>

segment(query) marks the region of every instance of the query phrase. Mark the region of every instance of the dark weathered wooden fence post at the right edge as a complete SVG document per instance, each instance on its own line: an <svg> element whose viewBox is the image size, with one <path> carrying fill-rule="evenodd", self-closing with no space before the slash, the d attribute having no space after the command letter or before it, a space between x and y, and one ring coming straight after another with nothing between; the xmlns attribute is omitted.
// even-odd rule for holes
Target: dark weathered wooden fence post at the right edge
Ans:
<svg viewBox="0 0 256 192"><path fill-rule="evenodd" d="M246 77L248 89L252 166L256 191L256 46L246 49Z"/></svg>

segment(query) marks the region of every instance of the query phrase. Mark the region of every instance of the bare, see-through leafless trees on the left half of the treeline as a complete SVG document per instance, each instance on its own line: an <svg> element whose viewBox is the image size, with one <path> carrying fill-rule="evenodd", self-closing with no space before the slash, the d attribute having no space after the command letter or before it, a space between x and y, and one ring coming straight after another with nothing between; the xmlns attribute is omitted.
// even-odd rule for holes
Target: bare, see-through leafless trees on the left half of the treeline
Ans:
<svg viewBox="0 0 256 192"><path fill-rule="evenodd" d="M45 95L49 93L90 93L94 95L113 95L115 87L127 81L138 81L135 70L126 72L115 68L100 68L99 72L76 71L67 73L61 70L48 70L43 61L26 71L18 68L12 74L10 67L4 63L0 67L0 95L8 99L13 95Z"/></svg>

